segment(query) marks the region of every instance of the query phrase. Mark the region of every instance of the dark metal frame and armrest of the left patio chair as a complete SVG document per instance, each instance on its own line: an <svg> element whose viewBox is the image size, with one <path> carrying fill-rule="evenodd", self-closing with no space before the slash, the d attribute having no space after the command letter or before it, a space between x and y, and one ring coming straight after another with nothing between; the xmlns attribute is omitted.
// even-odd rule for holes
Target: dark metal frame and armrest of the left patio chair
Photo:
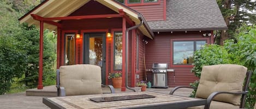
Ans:
<svg viewBox="0 0 256 109"><path fill-rule="evenodd" d="M59 69L57 69L57 76L56 76L56 87L57 87L57 96L64 97L66 96L66 92L64 87L60 86L61 82L59 79ZM109 87L111 93L115 93L115 88L112 85L102 85L102 87Z"/></svg>

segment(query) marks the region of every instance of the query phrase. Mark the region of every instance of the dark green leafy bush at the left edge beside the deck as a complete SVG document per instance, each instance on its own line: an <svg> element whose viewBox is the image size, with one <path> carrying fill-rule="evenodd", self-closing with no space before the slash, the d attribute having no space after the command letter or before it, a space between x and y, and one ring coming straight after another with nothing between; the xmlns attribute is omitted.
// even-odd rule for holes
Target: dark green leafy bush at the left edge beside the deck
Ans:
<svg viewBox="0 0 256 109"><path fill-rule="evenodd" d="M20 77L25 69L26 53L20 50L13 37L0 36L0 94L10 91L14 77Z"/></svg>

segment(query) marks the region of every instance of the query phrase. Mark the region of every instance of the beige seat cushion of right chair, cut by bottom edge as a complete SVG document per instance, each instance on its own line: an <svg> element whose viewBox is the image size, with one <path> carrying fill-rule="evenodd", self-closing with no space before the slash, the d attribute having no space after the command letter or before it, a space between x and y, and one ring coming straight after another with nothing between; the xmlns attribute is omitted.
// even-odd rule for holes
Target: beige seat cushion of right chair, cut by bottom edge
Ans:
<svg viewBox="0 0 256 109"><path fill-rule="evenodd" d="M205 106L189 107L187 109L204 109ZM238 109L239 106L228 104L225 102L212 101L210 109Z"/></svg>

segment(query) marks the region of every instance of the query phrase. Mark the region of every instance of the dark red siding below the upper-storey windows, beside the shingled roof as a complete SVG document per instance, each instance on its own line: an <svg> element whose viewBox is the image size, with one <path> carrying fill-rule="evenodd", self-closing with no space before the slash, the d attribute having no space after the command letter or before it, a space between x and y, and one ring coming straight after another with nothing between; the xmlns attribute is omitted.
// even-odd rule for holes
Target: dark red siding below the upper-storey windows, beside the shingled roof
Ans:
<svg viewBox="0 0 256 109"><path fill-rule="evenodd" d="M136 5L136 6L129 6L130 8L142 13L147 21L163 21L165 12L164 1L166 0L159 0L160 4L152 4L152 5Z"/></svg>

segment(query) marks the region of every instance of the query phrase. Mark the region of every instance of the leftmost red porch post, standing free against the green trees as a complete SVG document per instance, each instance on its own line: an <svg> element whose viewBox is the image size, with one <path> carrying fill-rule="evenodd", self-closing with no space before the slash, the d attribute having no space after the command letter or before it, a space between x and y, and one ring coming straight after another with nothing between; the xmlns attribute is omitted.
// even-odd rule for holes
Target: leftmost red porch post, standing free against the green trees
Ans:
<svg viewBox="0 0 256 109"><path fill-rule="evenodd" d="M37 89L43 89L43 50L44 50L44 22L40 21L39 73L38 73Z"/></svg>

